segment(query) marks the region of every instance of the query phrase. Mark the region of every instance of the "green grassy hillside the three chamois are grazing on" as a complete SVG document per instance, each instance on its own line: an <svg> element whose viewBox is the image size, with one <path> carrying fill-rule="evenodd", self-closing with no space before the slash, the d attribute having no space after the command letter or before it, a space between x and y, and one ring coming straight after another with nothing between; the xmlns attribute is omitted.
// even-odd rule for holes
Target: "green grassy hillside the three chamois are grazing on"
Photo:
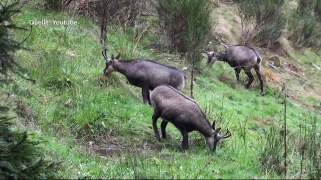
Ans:
<svg viewBox="0 0 321 180"><path fill-rule="evenodd" d="M212 35L225 43L240 42L236 5L223 1L211 5ZM33 25L24 42L28 50L18 50L15 58L36 83L12 74L10 83L0 86L15 99L12 113L17 116L16 128L45 140L40 145L46 160L59 162L57 178L283 178L284 113L286 178L321 177L321 70L311 66L321 66L319 50L295 47L284 36L277 40L278 47L258 48L263 57L263 97L258 80L245 89L244 71L238 82L226 62L218 61L209 68L204 56L200 61L203 70L194 74L194 98L209 121L217 120L217 126L222 131L228 128L232 136L211 152L202 134L194 131L189 133L189 149L181 152L182 135L173 124L168 125L168 139L155 140L153 109L142 103L140 88L130 85L120 73L103 75L100 27L95 21L32 5L15 16L15 22L26 27L31 19L77 21L77 25ZM151 28L145 29L145 24ZM187 76L183 93L189 96L188 57L151 48L158 39L156 24L153 15L141 16L132 26L108 24L107 55L120 52L123 59L150 58L175 65ZM15 31L14 35L22 40L28 33ZM272 57L281 60L280 71L268 65ZM6 94L0 101L4 99ZM160 124L158 119L159 129Z"/></svg>

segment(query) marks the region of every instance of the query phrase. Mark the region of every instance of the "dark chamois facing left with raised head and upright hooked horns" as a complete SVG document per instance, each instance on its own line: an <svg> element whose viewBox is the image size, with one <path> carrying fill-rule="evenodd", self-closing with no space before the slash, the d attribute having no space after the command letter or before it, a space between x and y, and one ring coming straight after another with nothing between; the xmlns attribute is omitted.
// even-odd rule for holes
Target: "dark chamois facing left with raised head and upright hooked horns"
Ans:
<svg viewBox="0 0 321 180"><path fill-rule="evenodd" d="M106 49L107 50L107 49ZM124 74L130 84L141 88L143 102L150 104L149 90L161 84L169 84L178 90L184 88L185 76L176 67L164 65L148 59L119 60L120 53L107 58L106 50L102 51L106 66L104 74L113 71Z"/></svg>

